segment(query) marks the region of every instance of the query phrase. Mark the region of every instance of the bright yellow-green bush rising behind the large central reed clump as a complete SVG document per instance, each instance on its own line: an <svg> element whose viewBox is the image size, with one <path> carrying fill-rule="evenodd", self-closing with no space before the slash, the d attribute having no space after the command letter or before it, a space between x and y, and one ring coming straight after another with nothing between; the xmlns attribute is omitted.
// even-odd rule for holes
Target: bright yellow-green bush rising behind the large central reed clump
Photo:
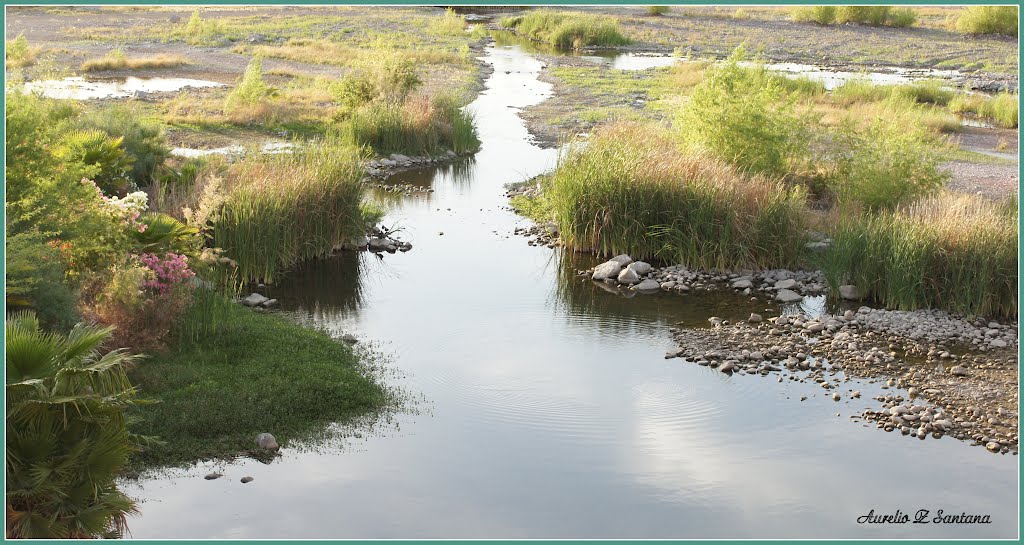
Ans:
<svg viewBox="0 0 1024 545"><path fill-rule="evenodd" d="M708 69L683 108L684 141L743 170L784 175L808 156L806 124L796 114L779 79L763 68L739 65L742 47Z"/></svg>

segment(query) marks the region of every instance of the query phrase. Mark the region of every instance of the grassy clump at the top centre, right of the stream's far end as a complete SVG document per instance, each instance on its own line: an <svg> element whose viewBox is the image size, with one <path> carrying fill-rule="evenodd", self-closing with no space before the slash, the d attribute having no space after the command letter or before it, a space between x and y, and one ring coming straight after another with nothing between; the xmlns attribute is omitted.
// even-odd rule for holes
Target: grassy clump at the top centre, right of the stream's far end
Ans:
<svg viewBox="0 0 1024 545"><path fill-rule="evenodd" d="M564 48L579 49L592 45L626 45L630 40L623 36L618 22L608 15L536 9L521 18L502 19L514 24L516 32Z"/></svg>

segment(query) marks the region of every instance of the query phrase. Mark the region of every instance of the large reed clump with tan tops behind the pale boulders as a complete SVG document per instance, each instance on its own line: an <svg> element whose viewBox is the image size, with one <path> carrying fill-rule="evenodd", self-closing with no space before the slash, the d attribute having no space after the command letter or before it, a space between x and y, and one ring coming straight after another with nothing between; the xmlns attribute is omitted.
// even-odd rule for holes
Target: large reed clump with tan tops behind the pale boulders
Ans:
<svg viewBox="0 0 1024 545"><path fill-rule="evenodd" d="M800 256L799 192L680 153L667 131L641 125L606 126L567 150L538 210L573 248L709 268L788 266Z"/></svg>

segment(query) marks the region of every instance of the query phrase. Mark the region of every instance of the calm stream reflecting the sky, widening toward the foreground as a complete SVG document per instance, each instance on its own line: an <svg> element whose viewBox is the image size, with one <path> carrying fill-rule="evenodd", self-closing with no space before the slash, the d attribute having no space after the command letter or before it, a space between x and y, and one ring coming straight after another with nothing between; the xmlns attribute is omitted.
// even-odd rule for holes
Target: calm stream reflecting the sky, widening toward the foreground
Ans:
<svg viewBox="0 0 1024 545"><path fill-rule="evenodd" d="M134 537L1016 536L1018 459L851 421L873 407L874 384L835 403L813 384L664 359L670 326L778 308L730 295L623 297L574 277L590 258L513 236L525 221L503 185L556 159L517 111L551 90L518 46L485 60L494 73L469 107L483 142L474 160L393 178L434 190L390 197L386 223L413 251L344 253L268 293L377 343L419 410L336 444L285 448L271 464L126 483L141 502ZM204 480L212 467L225 477ZM991 523L857 522L897 509Z"/></svg>

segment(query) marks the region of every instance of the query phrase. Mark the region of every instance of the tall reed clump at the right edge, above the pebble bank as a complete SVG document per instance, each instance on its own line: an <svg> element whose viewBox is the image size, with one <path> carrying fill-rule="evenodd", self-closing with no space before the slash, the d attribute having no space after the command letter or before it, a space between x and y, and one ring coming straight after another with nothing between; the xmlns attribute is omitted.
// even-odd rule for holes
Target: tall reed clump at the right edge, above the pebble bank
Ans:
<svg viewBox="0 0 1024 545"><path fill-rule="evenodd" d="M945 194L843 218L822 269L891 308L1017 318L1017 208Z"/></svg>

